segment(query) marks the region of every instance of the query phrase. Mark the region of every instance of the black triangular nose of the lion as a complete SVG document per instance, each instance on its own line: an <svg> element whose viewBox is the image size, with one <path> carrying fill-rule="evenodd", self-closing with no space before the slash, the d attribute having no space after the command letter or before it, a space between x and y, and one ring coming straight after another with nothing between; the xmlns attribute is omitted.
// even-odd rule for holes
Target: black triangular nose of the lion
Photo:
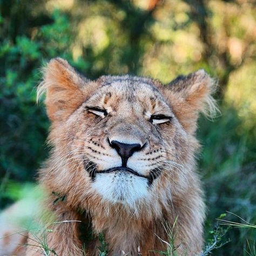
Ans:
<svg viewBox="0 0 256 256"><path fill-rule="evenodd" d="M115 149L121 157L123 167L126 167L128 158L131 157L134 152L143 148L143 146L140 144L126 144L118 142L117 140L109 141L109 143L110 146Z"/></svg>

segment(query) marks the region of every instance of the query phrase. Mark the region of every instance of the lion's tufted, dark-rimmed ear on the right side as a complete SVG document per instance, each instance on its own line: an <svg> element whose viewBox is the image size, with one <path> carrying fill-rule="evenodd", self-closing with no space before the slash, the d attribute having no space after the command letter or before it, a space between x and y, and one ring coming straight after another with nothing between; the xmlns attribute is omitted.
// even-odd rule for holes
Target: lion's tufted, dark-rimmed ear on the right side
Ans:
<svg viewBox="0 0 256 256"><path fill-rule="evenodd" d="M174 79L165 89L165 95L181 125L193 134L199 112L212 117L218 111L211 96L214 91L214 80L204 70L198 70Z"/></svg>

